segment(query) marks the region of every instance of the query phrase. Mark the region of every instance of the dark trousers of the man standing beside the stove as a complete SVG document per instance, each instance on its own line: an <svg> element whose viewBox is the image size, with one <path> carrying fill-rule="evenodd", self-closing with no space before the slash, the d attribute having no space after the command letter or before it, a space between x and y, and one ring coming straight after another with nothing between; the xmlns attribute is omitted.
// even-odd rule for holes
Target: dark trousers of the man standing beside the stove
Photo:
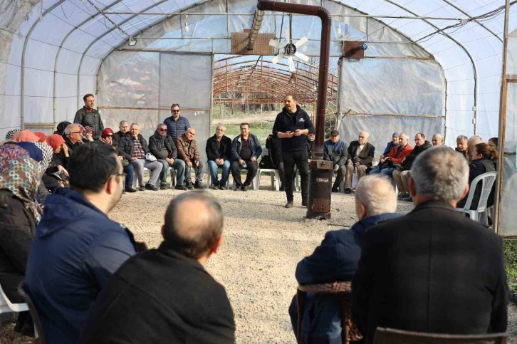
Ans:
<svg viewBox="0 0 517 344"><path fill-rule="evenodd" d="M287 202L293 202L293 177L295 165L298 167L301 179L302 200L308 200L309 195L309 160L307 150L290 150L282 152L284 182L286 185Z"/></svg>

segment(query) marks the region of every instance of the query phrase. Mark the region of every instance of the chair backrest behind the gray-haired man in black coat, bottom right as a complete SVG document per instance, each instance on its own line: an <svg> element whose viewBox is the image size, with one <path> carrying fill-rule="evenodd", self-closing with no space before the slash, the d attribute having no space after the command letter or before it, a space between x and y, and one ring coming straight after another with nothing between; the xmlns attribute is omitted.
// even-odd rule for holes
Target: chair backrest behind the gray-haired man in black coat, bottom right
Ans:
<svg viewBox="0 0 517 344"><path fill-rule="evenodd" d="M508 333L449 335L377 328L373 344L505 344Z"/></svg>

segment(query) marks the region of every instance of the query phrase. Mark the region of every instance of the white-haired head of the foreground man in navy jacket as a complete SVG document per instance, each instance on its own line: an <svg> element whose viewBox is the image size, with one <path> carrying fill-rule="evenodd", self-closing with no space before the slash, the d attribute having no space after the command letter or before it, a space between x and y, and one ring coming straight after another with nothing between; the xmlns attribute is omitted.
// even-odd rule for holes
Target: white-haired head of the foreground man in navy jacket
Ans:
<svg viewBox="0 0 517 344"><path fill-rule="evenodd" d="M392 183L380 174L359 179L355 187L355 202L362 204L370 217L397 211L397 197Z"/></svg>

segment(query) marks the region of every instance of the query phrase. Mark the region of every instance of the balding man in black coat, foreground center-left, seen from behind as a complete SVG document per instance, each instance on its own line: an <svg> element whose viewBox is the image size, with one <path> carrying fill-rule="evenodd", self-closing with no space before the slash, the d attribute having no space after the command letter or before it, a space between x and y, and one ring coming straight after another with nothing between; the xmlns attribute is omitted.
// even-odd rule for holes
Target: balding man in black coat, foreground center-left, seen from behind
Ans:
<svg viewBox="0 0 517 344"><path fill-rule="evenodd" d="M233 344L226 291L204 269L221 246L222 230L214 197L198 191L174 197L164 241L118 269L90 308L78 343Z"/></svg>

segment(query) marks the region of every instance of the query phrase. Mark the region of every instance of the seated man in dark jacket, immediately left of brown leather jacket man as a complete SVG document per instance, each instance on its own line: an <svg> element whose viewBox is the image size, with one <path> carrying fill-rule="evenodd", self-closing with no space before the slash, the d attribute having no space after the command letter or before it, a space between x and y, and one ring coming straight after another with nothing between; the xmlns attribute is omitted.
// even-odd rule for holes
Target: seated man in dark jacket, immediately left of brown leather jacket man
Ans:
<svg viewBox="0 0 517 344"><path fill-rule="evenodd" d="M160 123L155 131L155 135L149 137L149 151L154 155L162 167L160 174L160 190L169 188L167 184L167 172L169 167L177 171L176 173L176 189L186 190L183 181L185 179L185 163L181 159L177 159L176 142L172 137L167 135L167 125ZM172 178L172 174L171 174Z"/></svg>

